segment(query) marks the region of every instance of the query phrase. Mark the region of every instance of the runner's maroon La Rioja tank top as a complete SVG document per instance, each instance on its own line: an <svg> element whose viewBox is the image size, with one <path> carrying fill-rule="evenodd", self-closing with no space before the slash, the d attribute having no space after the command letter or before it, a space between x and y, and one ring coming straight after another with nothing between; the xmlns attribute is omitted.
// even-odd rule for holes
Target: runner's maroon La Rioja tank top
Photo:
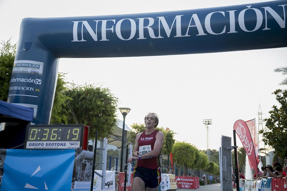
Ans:
<svg viewBox="0 0 287 191"><path fill-rule="evenodd" d="M158 130L154 130L149 135L146 135L146 131L141 133L141 136L138 140L139 145L139 152L144 155L154 149L154 143L156 142L156 133L158 133ZM152 157L149 159L142 159L137 161L137 166L142 166L149 169L158 169L160 168L160 153L156 157Z"/></svg>

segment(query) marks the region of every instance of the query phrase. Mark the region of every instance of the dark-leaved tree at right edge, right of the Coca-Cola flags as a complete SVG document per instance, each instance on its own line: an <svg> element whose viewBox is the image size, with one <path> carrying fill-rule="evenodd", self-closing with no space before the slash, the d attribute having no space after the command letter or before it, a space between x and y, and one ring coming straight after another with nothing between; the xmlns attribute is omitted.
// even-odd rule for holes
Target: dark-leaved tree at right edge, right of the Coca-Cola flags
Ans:
<svg viewBox="0 0 287 191"><path fill-rule="evenodd" d="M272 146L274 153L282 158L287 156L287 90L278 89L272 94L281 106L272 106L270 117L264 119L265 128L259 133L262 134L265 145Z"/></svg>

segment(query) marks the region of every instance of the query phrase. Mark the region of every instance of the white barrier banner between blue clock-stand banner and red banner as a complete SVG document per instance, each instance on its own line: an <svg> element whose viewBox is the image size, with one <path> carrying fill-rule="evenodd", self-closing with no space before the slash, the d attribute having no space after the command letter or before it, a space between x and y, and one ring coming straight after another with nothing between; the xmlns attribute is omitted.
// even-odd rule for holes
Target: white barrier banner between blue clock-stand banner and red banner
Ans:
<svg viewBox="0 0 287 191"><path fill-rule="evenodd" d="M99 174L102 174L101 170L96 170ZM96 173L94 174L94 184L93 190L100 191L101 190L102 178L98 176ZM106 170L106 182L105 188L103 190L115 191L116 183L115 183L115 171ZM90 191L90 189L89 189Z"/></svg>

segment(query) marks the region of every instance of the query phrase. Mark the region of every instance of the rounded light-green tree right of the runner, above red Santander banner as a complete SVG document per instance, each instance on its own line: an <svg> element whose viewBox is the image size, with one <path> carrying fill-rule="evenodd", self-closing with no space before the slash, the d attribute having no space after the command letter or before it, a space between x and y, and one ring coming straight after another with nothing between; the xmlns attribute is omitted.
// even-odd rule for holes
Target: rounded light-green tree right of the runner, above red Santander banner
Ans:
<svg viewBox="0 0 287 191"><path fill-rule="evenodd" d="M178 141L173 145L173 161L180 166L180 169L182 166L192 167L196 157L196 150L197 148L190 143ZM186 169L184 172L186 172Z"/></svg>

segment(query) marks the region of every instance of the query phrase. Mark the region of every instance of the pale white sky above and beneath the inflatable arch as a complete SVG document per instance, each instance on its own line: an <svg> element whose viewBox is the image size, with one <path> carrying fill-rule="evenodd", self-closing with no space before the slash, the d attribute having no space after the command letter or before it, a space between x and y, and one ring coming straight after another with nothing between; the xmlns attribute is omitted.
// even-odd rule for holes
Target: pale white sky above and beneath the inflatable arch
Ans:
<svg viewBox="0 0 287 191"><path fill-rule="evenodd" d="M220 7L261 2L218 1L13 1L0 0L0 40L19 38L26 17L75 17L148 13ZM210 148L220 147L221 135L232 137L236 120L256 118L261 104L263 119L277 104L271 93L284 76L274 73L286 66L287 48L176 56L129 58L61 58L59 72L68 82L90 82L110 88L119 107L131 108L126 124L144 123L148 112L159 116L159 126L169 127L178 141L206 149L203 119L212 119ZM77 114L76 114L77 115ZM119 119L122 119L118 111ZM237 143L239 143L237 137ZM232 141L233 143L233 141Z"/></svg>

